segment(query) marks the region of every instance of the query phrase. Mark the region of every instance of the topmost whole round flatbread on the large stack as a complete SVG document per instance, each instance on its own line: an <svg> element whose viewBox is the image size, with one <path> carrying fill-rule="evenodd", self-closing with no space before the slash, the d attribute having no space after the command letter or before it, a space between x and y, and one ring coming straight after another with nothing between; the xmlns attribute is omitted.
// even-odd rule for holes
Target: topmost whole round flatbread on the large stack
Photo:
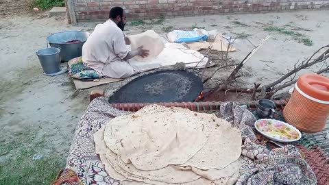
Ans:
<svg viewBox="0 0 329 185"><path fill-rule="evenodd" d="M141 112L112 119L106 125L104 140L123 162L132 162L137 169L151 171L184 164L208 140L208 127L197 115L146 106Z"/></svg>

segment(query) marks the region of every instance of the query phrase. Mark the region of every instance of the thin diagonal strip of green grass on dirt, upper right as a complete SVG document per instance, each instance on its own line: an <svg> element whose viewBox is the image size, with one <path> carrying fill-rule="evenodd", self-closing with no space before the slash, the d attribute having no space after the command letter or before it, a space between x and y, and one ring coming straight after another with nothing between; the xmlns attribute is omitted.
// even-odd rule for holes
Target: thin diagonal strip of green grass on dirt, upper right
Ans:
<svg viewBox="0 0 329 185"><path fill-rule="evenodd" d="M292 36L294 40L297 40L298 42L302 42L306 46L313 45L313 41L310 40L310 38L307 38L307 36L305 36L304 34L293 32L291 30L284 29L283 27L268 26L268 27L264 27L264 31L277 32L279 34Z"/></svg>

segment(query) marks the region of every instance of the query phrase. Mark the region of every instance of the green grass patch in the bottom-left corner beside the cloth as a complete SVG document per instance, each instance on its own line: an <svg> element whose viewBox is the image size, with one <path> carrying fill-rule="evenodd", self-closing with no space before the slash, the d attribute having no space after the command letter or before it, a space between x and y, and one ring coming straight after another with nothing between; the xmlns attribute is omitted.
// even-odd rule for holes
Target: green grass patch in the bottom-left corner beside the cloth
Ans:
<svg viewBox="0 0 329 185"><path fill-rule="evenodd" d="M51 184L64 168L65 159L56 151L32 160L46 147L46 138L36 141L35 136L36 133L25 132L0 143L0 184Z"/></svg>

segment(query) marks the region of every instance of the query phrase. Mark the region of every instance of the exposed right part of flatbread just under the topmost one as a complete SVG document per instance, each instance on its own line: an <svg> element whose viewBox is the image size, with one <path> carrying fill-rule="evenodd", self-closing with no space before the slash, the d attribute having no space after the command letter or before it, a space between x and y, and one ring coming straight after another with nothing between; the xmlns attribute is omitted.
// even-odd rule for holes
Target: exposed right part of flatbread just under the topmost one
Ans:
<svg viewBox="0 0 329 185"><path fill-rule="evenodd" d="M230 123L215 115L202 114L209 130L208 142L183 167L198 169L223 169L241 155L241 132ZM208 117L208 118L207 118Z"/></svg>

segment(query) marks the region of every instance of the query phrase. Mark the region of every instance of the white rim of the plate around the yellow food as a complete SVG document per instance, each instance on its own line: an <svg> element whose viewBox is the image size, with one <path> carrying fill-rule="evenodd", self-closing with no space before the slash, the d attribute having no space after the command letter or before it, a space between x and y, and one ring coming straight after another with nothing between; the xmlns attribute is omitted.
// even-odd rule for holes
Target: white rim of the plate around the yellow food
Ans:
<svg viewBox="0 0 329 185"><path fill-rule="evenodd" d="M275 123L278 123L279 126L283 124L283 125L285 125L285 126L283 126L283 127L289 127L289 129L294 130L295 132L297 132L297 134L299 134L299 136L298 136L298 138L296 138L296 139L288 139L288 138L287 138L287 139L284 139L284 138L280 138L279 135L278 135L278 136L271 136L271 135L267 134L266 132L263 132L260 128L258 128L258 124L260 124L260 123L263 122L263 121L266 121L266 125L267 125L267 123L268 123L269 121L271 121L271 122L274 123L274 124L275 124ZM288 123L284 123L284 122L282 122L282 121L275 120L275 119L260 119L260 120L258 120L258 121L255 122L254 126L255 126L256 130L257 130L260 134L263 134L263 136L265 136L265 137L267 137L267 138L269 138L269 139L271 139L271 140L278 141L278 142L289 143L289 142L295 142L295 141L297 141L297 140L300 140L300 138L302 138L302 133L300 133L300 131L297 130L296 127L294 127L293 125L290 125L290 124L288 124ZM266 127L266 126L265 126L265 127Z"/></svg>

